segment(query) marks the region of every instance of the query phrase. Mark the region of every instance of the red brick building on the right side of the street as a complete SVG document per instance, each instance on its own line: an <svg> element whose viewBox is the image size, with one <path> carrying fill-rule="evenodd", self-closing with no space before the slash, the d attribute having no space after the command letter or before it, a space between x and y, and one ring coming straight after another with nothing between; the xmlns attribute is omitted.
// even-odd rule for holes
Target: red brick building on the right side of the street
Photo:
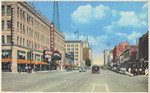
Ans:
<svg viewBox="0 0 150 93"><path fill-rule="evenodd" d="M125 46L128 45L128 42L121 42L119 45L116 45L113 49L113 65L117 65L116 57L123 53Z"/></svg>

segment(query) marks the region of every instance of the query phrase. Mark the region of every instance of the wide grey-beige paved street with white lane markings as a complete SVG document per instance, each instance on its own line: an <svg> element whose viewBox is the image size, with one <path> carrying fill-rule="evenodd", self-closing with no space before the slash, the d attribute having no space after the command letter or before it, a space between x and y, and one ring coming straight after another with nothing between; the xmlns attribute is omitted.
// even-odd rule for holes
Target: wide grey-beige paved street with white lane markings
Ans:
<svg viewBox="0 0 150 93"><path fill-rule="evenodd" d="M3 73L2 91L28 92L147 92L147 77L130 77L101 70L100 74L78 71Z"/></svg>

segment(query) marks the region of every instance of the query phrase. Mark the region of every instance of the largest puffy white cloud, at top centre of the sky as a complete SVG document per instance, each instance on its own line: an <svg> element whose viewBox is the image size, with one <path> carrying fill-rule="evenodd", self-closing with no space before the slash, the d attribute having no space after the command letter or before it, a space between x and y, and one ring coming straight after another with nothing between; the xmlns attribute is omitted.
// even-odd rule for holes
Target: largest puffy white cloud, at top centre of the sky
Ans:
<svg viewBox="0 0 150 93"><path fill-rule="evenodd" d="M71 19L76 24L89 23L92 19L101 19L106 15L108 10L109 7L102 4L97 7L92 7L87 4L79 6L78 9L71 14Z"/></svg>

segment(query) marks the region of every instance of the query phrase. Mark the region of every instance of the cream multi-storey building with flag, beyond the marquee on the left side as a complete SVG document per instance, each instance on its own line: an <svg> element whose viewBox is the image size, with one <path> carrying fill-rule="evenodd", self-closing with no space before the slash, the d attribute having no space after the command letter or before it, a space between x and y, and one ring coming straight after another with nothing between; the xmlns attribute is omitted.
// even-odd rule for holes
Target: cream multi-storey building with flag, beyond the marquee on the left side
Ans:
<svg viewBox="0 0 150 93"><path fill-rule="evenodd" d="M74 52L74 58L77 66L83 66L83 42L81 40L66 40L65 51Z"/></svg>

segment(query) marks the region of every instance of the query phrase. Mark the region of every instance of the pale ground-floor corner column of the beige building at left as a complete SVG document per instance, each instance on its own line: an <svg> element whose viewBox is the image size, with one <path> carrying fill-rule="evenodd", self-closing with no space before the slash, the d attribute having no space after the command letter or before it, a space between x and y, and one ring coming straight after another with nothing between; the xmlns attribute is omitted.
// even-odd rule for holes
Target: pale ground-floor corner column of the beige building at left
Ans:
<svg viewBox="0 0 150 93"><path fill-rule="evenodd" d="M17 49L12 48L12 72L17 72Z"/></svg>

